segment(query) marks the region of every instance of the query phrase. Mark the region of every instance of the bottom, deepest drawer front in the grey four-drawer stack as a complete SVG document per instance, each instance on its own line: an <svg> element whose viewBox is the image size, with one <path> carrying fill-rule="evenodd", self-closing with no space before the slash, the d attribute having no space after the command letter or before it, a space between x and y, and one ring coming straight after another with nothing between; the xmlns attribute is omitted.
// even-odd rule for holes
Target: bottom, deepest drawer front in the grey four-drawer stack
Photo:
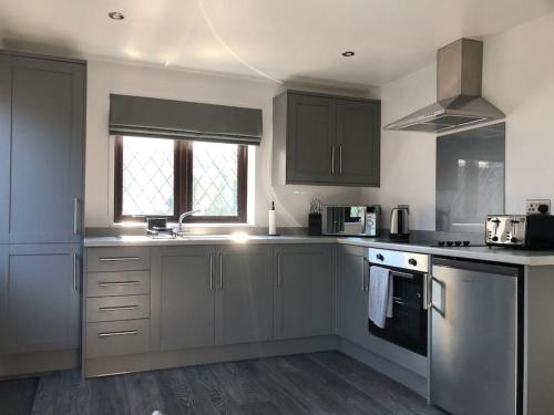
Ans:
<svg viewBox="0 0 554 415"><path fill-rule="evenodd" d="M146 353L150 320L86 323L86 359Z"/></svg>

